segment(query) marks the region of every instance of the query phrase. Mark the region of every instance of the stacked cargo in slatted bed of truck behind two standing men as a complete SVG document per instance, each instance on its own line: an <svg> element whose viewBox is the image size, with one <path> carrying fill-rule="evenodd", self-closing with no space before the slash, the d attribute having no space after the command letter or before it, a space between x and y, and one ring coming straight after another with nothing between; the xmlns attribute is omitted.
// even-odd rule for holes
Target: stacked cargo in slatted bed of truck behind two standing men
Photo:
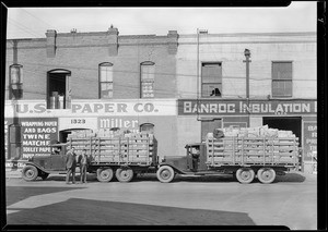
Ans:
<svg viewBox="0 0 328 232"><path fill-rule="evenodd" d="M68 136L68 144L78 154L86 149L91 160L96 163L149 166L156 162L157 143L153 134L147 132L80 131Z"/></svg>

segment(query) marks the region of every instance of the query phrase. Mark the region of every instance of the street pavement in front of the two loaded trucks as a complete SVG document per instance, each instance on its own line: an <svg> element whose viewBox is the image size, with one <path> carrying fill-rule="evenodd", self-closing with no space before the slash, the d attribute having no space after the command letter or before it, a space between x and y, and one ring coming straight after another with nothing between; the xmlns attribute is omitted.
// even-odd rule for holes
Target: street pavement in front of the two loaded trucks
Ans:
<svg viewBox="0 0 328 232"><path fill-rule="evenodd" d="M25 182L20 174L7 172L9 224L317 228L314 174L289 173L268 185L257 181L239 184L230 175L177 176L167 184L160 183L154 175L130 183L99 183L89 175L86 184L66 185L63 175Z"/></svg>

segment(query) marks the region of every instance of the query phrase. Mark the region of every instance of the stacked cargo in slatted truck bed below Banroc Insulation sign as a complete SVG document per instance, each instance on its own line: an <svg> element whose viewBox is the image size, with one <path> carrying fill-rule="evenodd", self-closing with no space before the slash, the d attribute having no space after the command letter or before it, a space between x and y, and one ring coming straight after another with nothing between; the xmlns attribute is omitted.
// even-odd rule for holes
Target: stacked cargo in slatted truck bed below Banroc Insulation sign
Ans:
<svg viewBox="0 0 328 232"><path fill-rule="evenodd" d="M298 158L298 138L291 131L259 127L220 130L224 136L207 135L207 163L294 166ZM218 133L216 133L218 134Z"/></svg>

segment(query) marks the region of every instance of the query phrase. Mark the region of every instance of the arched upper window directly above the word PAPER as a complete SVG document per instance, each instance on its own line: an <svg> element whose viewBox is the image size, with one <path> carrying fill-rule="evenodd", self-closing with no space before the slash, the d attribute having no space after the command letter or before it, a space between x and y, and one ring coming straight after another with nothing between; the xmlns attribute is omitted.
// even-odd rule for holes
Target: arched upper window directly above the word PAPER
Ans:
<svg viewBox="0 0 328 232"><path fill-rule="evenodd" d="M113 98L113 63L99 64L99 98Z"/></svg>

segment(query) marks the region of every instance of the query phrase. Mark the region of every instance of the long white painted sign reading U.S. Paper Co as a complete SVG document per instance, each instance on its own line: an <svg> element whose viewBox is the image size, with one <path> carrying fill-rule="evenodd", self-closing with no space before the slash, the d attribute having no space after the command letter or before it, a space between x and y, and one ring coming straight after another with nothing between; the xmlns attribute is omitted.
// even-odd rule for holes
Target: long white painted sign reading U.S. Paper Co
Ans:
<svg viewBox="0 0 328 232"><path fill-rule="evenodd" d="M176 115L176 100L73 100L70 109L47 109L46 101L5 103L5 117ZM63 113L65 112L65 113Z"/></svg>

